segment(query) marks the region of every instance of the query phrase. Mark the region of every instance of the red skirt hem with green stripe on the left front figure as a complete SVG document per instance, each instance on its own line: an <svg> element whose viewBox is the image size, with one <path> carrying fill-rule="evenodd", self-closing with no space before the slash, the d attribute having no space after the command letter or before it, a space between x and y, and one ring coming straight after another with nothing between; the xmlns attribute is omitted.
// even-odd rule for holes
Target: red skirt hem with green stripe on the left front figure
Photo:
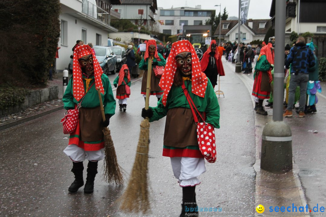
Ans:
<svg viewBox="0 0 326 217"><path fill-rule="evenodd" d="M104 139L94 142L87 142L80 140L80 135L80 126L78 121L75 132L70 133L68 145L75 144L78 147L84 149L85 151L98 151L101 148L104 148Z"/></svg>

